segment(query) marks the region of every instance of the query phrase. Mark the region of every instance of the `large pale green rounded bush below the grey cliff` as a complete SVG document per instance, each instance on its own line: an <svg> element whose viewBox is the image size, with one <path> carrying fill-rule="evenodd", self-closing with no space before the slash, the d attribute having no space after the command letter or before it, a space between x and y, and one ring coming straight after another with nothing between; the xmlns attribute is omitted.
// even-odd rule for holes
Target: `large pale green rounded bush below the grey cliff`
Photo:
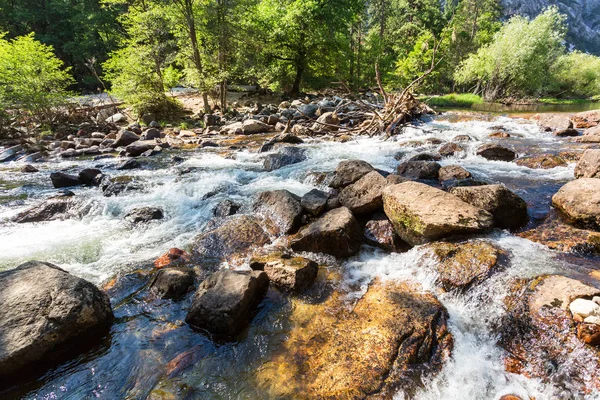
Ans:
<svg viewBox="0 0 600 400"><path fill-rule="evenodd" d="M489 45L464 61L455 73L460 84L478 85L487 100L539 95L548 71L564 52L565 17L555 7L532 21L513 17Z"/></svg>

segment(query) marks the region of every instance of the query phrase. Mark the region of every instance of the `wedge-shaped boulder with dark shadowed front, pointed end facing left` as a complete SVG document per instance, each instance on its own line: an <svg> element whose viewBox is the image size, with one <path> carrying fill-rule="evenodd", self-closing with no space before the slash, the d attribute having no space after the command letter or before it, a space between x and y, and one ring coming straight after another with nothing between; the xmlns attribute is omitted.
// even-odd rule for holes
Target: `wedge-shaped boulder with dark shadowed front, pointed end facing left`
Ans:
<svg viewBox="0 0 600 400"><path fill-rule="evenodd" d="M290 247L295 251L347 257L358 251L361 239L358 222L350 210L340 207L301 228L292 237Z"/></svg>

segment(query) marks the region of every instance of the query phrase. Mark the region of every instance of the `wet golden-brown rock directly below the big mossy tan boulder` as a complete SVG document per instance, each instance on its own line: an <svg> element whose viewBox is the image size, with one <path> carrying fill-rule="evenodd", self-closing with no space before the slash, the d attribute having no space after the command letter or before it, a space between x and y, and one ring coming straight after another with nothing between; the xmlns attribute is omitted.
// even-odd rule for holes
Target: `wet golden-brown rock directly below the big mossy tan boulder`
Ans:
<svg viewBox="0 0 600 400"><path fill-rule="evenodd" d="M483 282L498 265L501 251L489 242L438 242L427 245L433 255L438 282L446 290L465 290Z"/></svg>

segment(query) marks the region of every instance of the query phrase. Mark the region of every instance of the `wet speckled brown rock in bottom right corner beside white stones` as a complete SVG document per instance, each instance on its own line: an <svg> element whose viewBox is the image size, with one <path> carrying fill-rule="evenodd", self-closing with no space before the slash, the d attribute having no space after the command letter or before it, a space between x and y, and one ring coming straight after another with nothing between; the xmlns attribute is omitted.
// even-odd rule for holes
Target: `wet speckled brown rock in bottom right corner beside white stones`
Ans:
<svg viewBox="0 0 600 400"><path fill-rule="evenodd" d="M568 308L578 298L600 293L575 279L548 275L520 282L505 300L500 345L507 350L509 372L552 383L565 398L583 398L600 390L600 352L577 336ZM558 368L557 368L558 367Z"/></svg>

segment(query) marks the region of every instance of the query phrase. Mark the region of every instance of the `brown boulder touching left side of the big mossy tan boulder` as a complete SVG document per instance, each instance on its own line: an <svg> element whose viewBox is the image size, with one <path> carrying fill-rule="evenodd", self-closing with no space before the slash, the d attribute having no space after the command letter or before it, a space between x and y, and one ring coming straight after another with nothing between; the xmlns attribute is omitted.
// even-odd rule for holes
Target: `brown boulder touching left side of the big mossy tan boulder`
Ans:
<svg viewBox="0 0 600 400"><path fill-rule="evenodd" d="M377 171L372 171L351 185L346 186L339 194L340 204L352 213L369 214L381 209L383 202L381 193L387 186L387 180Z"/></svg>

